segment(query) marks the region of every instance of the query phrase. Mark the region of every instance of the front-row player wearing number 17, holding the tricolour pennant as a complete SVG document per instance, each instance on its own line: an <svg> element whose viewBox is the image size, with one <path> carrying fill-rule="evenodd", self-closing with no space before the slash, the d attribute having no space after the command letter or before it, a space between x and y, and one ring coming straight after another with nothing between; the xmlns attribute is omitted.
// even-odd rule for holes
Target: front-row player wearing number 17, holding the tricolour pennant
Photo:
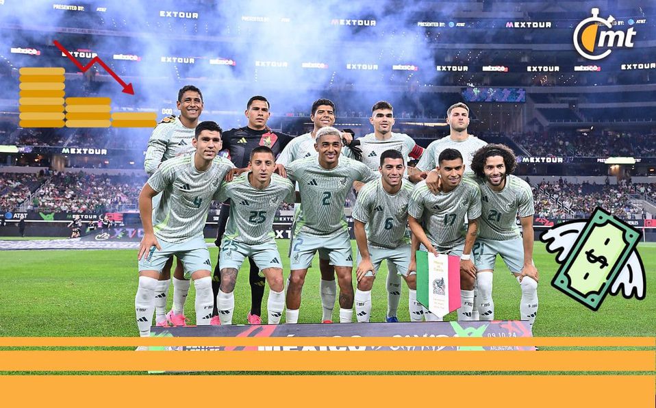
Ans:
<svg viewBox="0 0 656 408"><path fill-rule="evenodd" d="M440 153L437 170L442 179L441 190L433 193L425 181L418 183L407 208L408 223L414 234L411 270L416 269L417 241L435 255L459 256L462 307L458 309L458 320L471 320L476 267L470 258L481 216L481 190L477 183L462 177L465 166L462 155L455 149ZM469 223L463 237L465 217Z"/></svg>

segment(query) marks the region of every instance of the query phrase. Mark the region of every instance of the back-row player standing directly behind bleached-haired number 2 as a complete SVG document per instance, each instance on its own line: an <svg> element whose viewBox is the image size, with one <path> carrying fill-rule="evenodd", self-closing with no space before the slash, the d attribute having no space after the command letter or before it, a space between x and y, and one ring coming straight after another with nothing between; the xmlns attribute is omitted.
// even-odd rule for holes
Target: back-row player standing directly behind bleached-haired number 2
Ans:
<svg viewBox="0 0 656 408"><path fill-rule="evenodd" d="M312 103L312 114L310 120L314 123L314 129L309 133L304 133L301 136L293 138L289 144L283 149L278 156L276 163L282 164L285 167L299 159L305 157L314 157L318 153L314 148L314 138L316 132L322 127L332 126L335 124L335 104L330 99L317 99ZM346 143L350 143L351 134L342 133L342 139ZM344 151L345 148L342 148ZM300 207L294 205L294 216ZM292 225L292 231L294 225ZM292 237L293 238L293 237ZM290 247L291 250L291 247ZM337 283L335 282L335 268L331 266L328 255L324 251L319 251L319 270L321 272L321 280L319 283L319 294L321 296L322 306L322 322L332 322L333 308L335 307L335 298L337 294Z"/></svg>

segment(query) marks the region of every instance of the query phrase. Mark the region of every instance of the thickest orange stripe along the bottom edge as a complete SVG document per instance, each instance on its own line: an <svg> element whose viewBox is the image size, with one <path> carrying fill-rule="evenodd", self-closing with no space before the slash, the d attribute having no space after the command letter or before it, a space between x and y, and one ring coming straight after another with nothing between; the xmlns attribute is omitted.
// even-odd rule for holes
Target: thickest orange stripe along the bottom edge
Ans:
<svg viewBox="0 0 656 408"><path fill-rule="evenodd" d="M184 391L153 394L162 390L163 381ZM654 377L646 375L3 376L0 383L7 407L49 407L60 401L66 407L131 407L147 400L180 407L210 401L271 408L335 407L344 401L353 407L653 407L655 394Z"/></svg>

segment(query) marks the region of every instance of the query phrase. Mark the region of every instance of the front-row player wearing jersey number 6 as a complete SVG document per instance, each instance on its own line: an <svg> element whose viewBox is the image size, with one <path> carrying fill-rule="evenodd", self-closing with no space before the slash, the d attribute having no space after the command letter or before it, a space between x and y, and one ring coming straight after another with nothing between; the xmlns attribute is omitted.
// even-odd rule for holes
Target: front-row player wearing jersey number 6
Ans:
<svg viewBox="0 0 656 408"><path fill-rule="evenodd" d="M355 272L355 315L358 322L369 321L371 288L378 268L386 260L390 275L394 265L394 272L408 285L410 320L421 321L423 311L417 302L416 272L408 270L407 205L413 186L403 179L405 158L401 152L391 149L381 153L379 172L381 178L370 181L360 190L353 207L353 230L359 252ZM401 288L397 290L400 292Z"/></svg>

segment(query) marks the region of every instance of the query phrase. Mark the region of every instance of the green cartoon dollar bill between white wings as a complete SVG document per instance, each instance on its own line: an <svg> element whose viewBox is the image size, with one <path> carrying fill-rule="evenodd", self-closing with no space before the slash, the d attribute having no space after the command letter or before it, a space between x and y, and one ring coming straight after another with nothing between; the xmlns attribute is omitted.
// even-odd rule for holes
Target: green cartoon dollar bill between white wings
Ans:
<svg viewBox="0 0 656 408"><path fill-rule="evenodd" d="M639 239L639 231L603 209L596 208L551 285L590 309L597 310L620 270L629 261L629 255L635 250Z"/></svg>

